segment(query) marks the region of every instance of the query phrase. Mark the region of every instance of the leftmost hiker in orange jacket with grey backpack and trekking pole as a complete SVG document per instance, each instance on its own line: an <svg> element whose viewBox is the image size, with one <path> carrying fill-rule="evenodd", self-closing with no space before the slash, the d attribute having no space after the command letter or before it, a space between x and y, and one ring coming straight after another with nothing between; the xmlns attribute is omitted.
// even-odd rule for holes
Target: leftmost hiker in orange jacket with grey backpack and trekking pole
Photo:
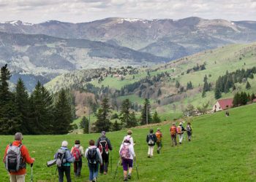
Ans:
<svg viewBox="0 0 256 182"><path fill-rule="evenodd" d="M21 132L15 133L14 140L5 149L3 162L10 173L10 182L25 182L26 163L32 166L34 158L29 156L29 150L22 144L23 135Z"/></svg>

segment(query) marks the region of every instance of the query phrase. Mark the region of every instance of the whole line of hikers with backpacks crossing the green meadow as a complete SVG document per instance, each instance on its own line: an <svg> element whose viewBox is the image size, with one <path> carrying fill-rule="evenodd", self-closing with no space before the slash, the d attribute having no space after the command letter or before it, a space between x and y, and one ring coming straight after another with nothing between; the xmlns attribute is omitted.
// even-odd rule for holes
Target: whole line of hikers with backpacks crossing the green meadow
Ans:
<svg viewBox="0 0 256 182"><path fill-rule="evenodd" d="M188 122L187 127L183 127L181 122L178 127L173 123L170 127L171 145L177 145L176 136L179 137L179 143L182 143L184 138L184 132L187 131L188 141L191 141L192 126ZM34 163L34 158L29 156L29 151L26 146L22 144L23 135L20 132L15 133L15 141L7 146L4 153L4 164L6 169L10 173L11 182L25 182L26 164ZM148 143L148 158L153 157L154 146L157 144L157 154L160 154L162 149L162 132L160 128L157 128L157 132L149 130L146 136L146 142ZM124 170L124 181L132 178L132 167L135 162L135 142L132 138L132 130L127 131L127 135L124 136L124 140L121 143L119 149L119 156L121 159L121 165ZM89 147L84 151L83 146L80 145L80 141L76 140L75 145L69 151L67 148L68 142L62 141L61 148L54 154L53 164L57 165L59 173L59 182L64 181L64 174L66 175L67 182L71 181L70 165L74 163L74 173L76 177L80 176L82 169L83 157L88 161L89 167L89 181L97 181L98 173L104 175L108 174L108 163L110 157L110 151L113 150L110 140L106 137L106 132L102 131L97 143L94 140L89 141ZM119 162L118 162L119 164ZM50 166L50 165L49 165ZM117 166L118 167L118 166ZM137 171L138 172L138 171ZM115 174L116 177L116 174Z"/></svg>

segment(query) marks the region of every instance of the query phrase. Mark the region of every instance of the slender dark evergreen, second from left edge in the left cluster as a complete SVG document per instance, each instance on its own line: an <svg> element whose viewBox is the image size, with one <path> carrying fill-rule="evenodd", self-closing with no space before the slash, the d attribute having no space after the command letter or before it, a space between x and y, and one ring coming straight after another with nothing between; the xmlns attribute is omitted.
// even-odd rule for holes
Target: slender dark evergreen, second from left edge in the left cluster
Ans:
<svg viewBox="0 0 256 182"><path fill-rule="evenodd" d="M29 128L29 94L26 91L23 80L20 78L18 79L15 89L15 105L17 114L20 115L21 118L20 132L29 134L31 132Z"/></svg>

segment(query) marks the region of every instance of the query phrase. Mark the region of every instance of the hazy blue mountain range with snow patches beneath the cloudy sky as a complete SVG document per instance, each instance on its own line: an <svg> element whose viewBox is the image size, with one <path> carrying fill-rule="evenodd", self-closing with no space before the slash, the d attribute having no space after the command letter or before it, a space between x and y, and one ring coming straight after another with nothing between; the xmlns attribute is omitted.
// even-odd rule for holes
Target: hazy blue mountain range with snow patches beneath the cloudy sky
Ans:
<svg viewBox="0 0 256 182"><path fill-rule="evenodd" d="M48 82L76 69L150 66L256 41L256 22L110 17L89 23L10 21L0 23L0 32L0 65L9 63L13 77L26 77L31 89L37 79Z"/></svg>

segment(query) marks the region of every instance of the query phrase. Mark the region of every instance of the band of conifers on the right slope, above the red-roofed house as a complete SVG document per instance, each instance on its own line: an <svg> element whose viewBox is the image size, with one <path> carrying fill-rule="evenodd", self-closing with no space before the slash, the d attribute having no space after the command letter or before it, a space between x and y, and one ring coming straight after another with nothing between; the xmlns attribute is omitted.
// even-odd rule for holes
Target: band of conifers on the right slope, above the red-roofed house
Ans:
<svg viewBox="0 0 256 182"><path fill-rule="evenodd" d="M244 70L244 68L242 68L241 70L238 69L231 73L228 73L227 71L224 76L219 76L216 81L216 86L214 90L215 98L221 98L222 92L230 92L231 88L233 88L233 90L236 90L235 83L246 82L248 78L253 79L253 74L256 74L256 67L249 68L246 71Z"/></svg>

